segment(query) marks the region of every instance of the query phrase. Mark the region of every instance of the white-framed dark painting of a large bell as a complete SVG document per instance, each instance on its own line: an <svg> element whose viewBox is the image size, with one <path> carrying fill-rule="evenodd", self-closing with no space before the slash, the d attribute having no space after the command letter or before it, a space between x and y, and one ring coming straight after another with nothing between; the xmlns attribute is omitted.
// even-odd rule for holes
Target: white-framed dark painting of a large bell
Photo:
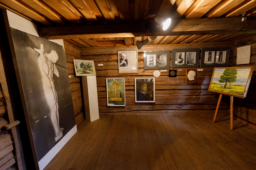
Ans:
<svg viewBox="0 0 256 170"><path fill-rule="evenodd" d="M134 78L135 102L155 102L155 78Z"/></svg>

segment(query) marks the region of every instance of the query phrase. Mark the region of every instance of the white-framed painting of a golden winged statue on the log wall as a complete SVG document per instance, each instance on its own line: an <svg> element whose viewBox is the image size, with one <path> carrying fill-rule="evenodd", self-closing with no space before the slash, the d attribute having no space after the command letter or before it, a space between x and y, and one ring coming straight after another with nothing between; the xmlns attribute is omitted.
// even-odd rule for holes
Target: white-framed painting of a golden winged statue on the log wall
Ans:
<svg viewBox="0 0 256 170"><path fill-rule="evenodd" d="M125 106L124 78L106 78L107 106Z"/></svg>

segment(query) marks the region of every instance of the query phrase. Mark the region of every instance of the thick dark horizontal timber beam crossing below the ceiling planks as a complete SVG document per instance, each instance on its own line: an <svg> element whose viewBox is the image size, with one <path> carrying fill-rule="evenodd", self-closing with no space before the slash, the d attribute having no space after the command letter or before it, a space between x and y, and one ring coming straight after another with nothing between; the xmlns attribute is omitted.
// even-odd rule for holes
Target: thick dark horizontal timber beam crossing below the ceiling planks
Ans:
<svg viewBox="0 0 256 170"><path fill-rule="evenodd" d="M46 39L99 38L102 34L105 38L140 37L146 32L147 36L256 33L256 17L248 17L246 21L241 17L173 19L165 31L156 28L156 22L148 21L39 28L40 37Z"/></svg>

